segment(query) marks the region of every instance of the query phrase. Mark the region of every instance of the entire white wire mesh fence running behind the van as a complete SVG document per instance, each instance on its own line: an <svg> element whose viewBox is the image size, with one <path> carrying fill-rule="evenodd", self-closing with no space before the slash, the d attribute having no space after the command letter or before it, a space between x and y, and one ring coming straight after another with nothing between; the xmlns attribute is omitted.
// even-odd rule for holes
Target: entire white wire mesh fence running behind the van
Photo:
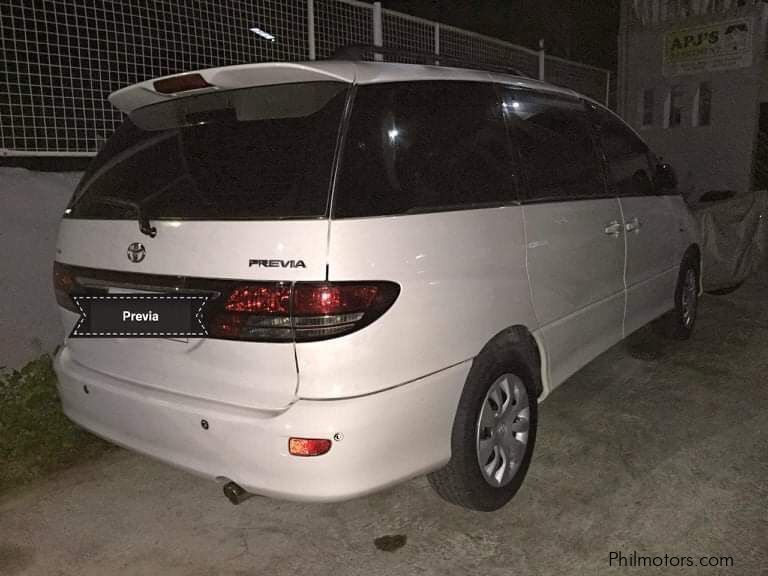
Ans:
<svg viewBox="0 0 768 576"><path fill-rule="evenodd" d="M121 121L106 97L128 84L348 44L543 72L601 101L610 85L607 70L357 0L0 0L0 43L0 155L93 155Z"/></svg>

